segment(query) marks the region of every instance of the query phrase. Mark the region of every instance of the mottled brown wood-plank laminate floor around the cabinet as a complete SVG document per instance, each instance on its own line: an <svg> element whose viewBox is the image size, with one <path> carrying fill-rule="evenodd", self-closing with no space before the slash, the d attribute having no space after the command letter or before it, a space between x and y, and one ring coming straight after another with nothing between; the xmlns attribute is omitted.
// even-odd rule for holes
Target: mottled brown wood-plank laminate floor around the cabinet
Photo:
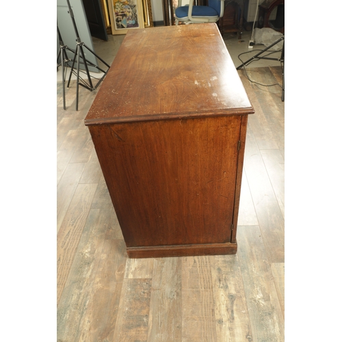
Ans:
<svg viewBox="0 0 342 342"><path fill-rule="evenodd" d="M248 68L281 83L279 67ZM236 255L128 259L88 128L57 84L57 341L284 341L284 103L239 71L249 116ZM285 94L286 96L286 94Z"/></svg>

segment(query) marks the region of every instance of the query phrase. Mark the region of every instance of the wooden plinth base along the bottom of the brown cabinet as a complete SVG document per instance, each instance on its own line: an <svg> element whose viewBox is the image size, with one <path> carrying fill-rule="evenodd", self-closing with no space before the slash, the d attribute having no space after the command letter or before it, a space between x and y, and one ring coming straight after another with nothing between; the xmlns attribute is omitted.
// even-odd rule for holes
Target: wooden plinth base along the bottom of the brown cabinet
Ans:
<svg viewBox="0 0 342 342"><path fill-rule="evenodd" d="M197 244L127 247L129 258L188 257L193 255L236 254L237 244Z"/></svg>

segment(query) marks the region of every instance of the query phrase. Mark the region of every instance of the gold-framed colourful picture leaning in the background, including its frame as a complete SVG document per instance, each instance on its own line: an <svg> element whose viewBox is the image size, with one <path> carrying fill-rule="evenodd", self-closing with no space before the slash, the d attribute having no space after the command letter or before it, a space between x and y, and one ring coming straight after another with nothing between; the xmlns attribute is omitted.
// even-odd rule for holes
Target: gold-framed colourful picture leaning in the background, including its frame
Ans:
<svg viewBox="0 0 342 342"><path fill-rule="evenodd" d="M144 29L142 0L109 0L111 3L111 33L127 34L129 29Z"/></svg>

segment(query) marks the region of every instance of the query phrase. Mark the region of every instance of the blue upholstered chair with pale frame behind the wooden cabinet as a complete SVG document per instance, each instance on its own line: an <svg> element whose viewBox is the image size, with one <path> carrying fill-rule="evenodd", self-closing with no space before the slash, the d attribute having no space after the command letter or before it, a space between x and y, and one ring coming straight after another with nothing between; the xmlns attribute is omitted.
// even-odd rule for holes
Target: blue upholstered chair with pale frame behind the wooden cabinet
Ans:
<svg viewBox="0 0 342 342"><path fill-rule="evenodd" d="M190 0L189 5L176 8L176 25L180 21L185 24L216 23L222 18L223 12L224 0L208 0L207 6L196 6L194 0Z"/></svg>

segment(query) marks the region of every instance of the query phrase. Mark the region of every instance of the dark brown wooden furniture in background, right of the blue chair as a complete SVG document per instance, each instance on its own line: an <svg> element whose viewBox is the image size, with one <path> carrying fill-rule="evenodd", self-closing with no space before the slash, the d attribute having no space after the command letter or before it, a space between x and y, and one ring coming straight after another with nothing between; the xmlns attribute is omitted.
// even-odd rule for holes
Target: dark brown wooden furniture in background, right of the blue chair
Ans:
<svg viewBox="0 0 342 342"><path fill-rule="evenodd" d="M218 21L221 34L235 32L237 39L241 39L244 23L244 0L225 0L224 14Z"/></svg>

